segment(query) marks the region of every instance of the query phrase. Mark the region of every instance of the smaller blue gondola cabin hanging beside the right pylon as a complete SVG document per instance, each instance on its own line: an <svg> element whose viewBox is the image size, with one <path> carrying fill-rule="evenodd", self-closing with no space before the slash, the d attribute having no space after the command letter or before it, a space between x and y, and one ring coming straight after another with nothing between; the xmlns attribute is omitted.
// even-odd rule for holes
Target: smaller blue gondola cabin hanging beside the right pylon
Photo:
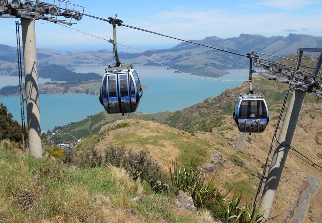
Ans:
<svg viewBox="0 0 322 223"><path fill-rule="evenodd" d="M269 122L264 98L258 94L238 97L233 118L240 132L264 132Z"/></svg>

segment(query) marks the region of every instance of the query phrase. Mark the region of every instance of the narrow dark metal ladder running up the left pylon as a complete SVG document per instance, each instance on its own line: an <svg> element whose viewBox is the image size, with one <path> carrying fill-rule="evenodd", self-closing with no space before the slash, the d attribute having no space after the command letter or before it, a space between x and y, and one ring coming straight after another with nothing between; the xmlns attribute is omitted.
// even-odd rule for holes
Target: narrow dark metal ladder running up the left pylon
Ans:
<svg viewBox="0 0 322 223"><path fill-rule="evenodd" d="M25 137L26 137L26 124L25 124L25 108L23 94L23 79L22 79L22 61L21 61L21 44L20 44L20 27L19 22L16 21L16 35L17 35L17 55L18 55L18 73L19 73L19 93L20 93L20 110L21 110L21 134L23 151L26 150Z"/></svg>

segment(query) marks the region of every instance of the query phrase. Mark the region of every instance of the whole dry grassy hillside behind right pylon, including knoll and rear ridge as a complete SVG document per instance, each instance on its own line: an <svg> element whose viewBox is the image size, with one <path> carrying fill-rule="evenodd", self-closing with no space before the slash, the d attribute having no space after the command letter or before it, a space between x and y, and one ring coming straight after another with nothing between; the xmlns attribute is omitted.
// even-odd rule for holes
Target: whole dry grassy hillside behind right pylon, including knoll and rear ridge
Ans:
<svg viewBox="0 0 322 223"><path fill-rule="evenodd" d="M261 77L256 77L259 78ZM55 137L59 139L63 136L60 140L74 140L71 135L77 139L90 135L76 147L80 151L88 148L100 151L107 145L123 145L132 150L145 148L163 167L173 159L187 164L194 160L189 154L193 152L197 156L195 160L199 167L209 174L217 173L223 189L233 188L233 191L237 190L251 197L257 189L259 172L262 171L287 88L282 83L271 83L268 80L254 81L255 91L264 94L269 106L270 123L265 134L241 134L232 120L235 100L239 93L246 92L248 88L248 84L244 83L240 87L226 90L220 96L175 112L134 113L127 117L102 112L59 128L61 135ZM292 143L294 148L320 166L321 102L314 95L307 94ZM189 155L189 160L182 159L185 154ZM279 216L273 222L292 219L300 197L311 182L308 174L320 181L322 179L315 168L290 153L272 211L272 216ZM320 187L311 200L307 222L321 220L321 194Z"/></svg>

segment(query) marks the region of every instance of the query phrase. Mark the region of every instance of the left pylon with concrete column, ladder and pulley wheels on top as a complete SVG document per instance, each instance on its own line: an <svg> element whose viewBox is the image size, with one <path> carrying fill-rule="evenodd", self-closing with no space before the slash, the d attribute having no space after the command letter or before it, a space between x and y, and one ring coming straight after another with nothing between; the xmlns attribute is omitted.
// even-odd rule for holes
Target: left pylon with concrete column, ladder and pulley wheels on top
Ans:
<svg viewBox="0 0 322 223"><path fill-rule="evenodd" d="M41 122L40 122L40 102L38 89L38 68L36 53L36 31L35 20L42 19L54 23L72 25L72 19L77 21L82 19L84 7L71 4L66 0L53 0L52 3L20 0L0 0L0 18L20 18L22 28L23 60L25 74L24 100L22 92L22 66L20 53L19 24L17 29L17 48L18 48L18 71L20 86L20 105L22 117L24 115L23 102L26 101L27 125L28 125L28 148L29 153L37 158L42 158L41 144ZM58 19L63 16L69 21ZM25 129L22 118L22 128ZM22 129L22 130L23 130ZM24 142L23 137L23 142Z"/></svg>

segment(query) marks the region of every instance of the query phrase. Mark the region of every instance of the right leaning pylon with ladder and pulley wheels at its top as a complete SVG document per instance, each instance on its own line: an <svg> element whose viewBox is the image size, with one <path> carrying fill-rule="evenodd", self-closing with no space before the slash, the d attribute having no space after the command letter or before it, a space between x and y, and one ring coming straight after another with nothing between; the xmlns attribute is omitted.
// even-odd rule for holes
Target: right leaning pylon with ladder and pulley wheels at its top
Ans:
<svg viewBox="0 0 322 223"><path fill-rule="evenodd" d="M304 52L315 52L319 53L320 56L313 67L313 72L307 72L301 70L301 67L308 68L301 65L302 56ZM260 53L262 54L262 53ZM263 54L262 54L263 55ZM273 56L273 55L269 55ZM278 57L278 56L275 56ZM284 58L284 57L279 57ZM292 60L292 59L289 59ZM294 61L294 60L292 60ZM293 94L290 98L288 108L284 117L283 125L277 140L277 146L273 154L273 158L270 165L265 165L262 179L257 191L257 195L261 190L261 185L263 179L266 179L266 183L263 189L263 194L260 200L259 208L264 211L263 221L267 221L270 216L270 212L274 203L274 198L279 185L279 181L283 172L283 168L286 162L289 148L292 143L293 135L297 125L298 117L301 112L303 101L307 92L310 92L319 98L322 98L322 76L319 72L322 64L322 48L299 48L298 59L296 61L296 66L291 67L278 62L270 62L266 59L257 58L254 63L255 66L267 67L271 73L277 75L268 75L262 73L270 80L276 80L282 83L287 83L294 88ZM319 79L318 79L319 78ZM285 101L286 102L286 101ZM277 127L276 127L277 128ZM275 132L276 133L276 132ZM274 140L274 139L273 139ZM272 146L272 145L271 145ZM267 162L269 159L270 151L268 153ZM265 176L266 168L269 167L268 176ZM256 196L257 197L257 196ZM256 204L256 199L254 205Z"/></svg>

